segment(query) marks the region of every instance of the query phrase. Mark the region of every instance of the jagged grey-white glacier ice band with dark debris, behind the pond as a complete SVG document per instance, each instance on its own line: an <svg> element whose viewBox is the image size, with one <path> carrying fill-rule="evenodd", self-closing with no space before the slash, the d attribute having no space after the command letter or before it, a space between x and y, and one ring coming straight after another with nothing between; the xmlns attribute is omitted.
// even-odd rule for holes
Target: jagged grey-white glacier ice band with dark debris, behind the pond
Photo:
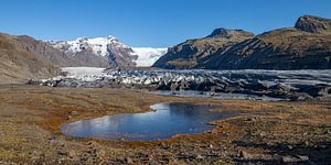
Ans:
<svg viewBox="0 0 331 165"><path fill-rule="evenodd" d="M71 88L134 88L222 94L243 94L302 101L331 95L331 70L107 70L28 84Z"/></svg>

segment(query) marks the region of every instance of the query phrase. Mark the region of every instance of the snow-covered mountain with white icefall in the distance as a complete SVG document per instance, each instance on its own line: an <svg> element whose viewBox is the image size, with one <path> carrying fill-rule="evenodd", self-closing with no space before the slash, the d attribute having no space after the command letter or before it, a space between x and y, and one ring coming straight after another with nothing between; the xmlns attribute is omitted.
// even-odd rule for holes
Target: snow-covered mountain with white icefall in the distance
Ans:
<svg viewBox="0 0 331 165"><path fill-rule="evenodd" d="M167 53L167 48L130 47L113 35L94 38L78 37L74 41L47 41L47 43L63 53L83 59L84 63L100 58L106 59L111 67L151 66Z"/></svg>

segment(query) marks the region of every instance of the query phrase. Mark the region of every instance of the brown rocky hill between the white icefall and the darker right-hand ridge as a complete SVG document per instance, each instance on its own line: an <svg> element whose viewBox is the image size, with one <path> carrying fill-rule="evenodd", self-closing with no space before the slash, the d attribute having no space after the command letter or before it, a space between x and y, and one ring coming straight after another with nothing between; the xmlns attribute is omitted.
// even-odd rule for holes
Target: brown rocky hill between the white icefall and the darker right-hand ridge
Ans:
<svg viewBox="0 0 331 165"><path fill-rule="evenodd" d="M154 63L154 67L161 68L196 68L200 63L217 51L226 51L227 47L254 37L253 33L242 30L217 29L203 38L188 40L174 47Z"/></svg>

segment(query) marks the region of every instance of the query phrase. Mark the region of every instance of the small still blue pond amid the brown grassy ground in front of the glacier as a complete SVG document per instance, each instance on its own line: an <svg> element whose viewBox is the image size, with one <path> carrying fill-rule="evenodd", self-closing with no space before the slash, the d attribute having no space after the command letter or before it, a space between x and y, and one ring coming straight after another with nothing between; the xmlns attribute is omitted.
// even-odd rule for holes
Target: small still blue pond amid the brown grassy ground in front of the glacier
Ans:
<svg viewBox="0 0 331 165"><path fill-rule="evenodd" d="M62 132L74 138L104 140L153 141L177 134L202 133L212 129L209 122L238 116L216 112L216 106L192 103L159 103L154 111L116 114L64 124Z"/></svg>

